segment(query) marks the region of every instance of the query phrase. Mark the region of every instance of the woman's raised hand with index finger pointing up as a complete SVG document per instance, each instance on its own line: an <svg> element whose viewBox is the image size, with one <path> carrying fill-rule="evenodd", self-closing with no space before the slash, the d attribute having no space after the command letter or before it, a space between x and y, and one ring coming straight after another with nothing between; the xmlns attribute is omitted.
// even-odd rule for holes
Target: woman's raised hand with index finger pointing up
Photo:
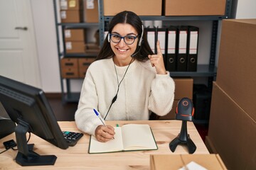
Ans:
<svg viewBox="0 0 256 170"><path fill-rule="evenodd" d="M157 74L166 74L166 69L164 67L164 57L161 53L161 47L159 40L156 43L157 54L156 55L149 55L150 62L153 67L156 68Z"/></svg>

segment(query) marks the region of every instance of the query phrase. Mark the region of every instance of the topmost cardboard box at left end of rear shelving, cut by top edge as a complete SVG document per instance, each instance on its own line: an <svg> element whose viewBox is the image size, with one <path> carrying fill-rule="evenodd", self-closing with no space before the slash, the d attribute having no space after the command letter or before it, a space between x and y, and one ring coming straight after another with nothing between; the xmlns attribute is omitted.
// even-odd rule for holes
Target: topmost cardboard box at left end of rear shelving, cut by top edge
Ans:
<svg viewBox="0 0 256 170"><path fill-rule="evenodd" d="M60 10L80 10L82 0L60 0Z"/></svg>

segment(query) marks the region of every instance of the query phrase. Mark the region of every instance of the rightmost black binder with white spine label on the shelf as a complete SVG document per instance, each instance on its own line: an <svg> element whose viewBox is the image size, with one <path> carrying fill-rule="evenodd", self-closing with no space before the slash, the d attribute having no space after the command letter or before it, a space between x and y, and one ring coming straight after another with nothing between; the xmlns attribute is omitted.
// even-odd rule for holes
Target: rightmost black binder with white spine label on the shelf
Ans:
<svg viewBox="0 0 256 170"><path fill-rule="evenodd" d="M188 60L187 71L196 72L198 60L198 35L199 28L188 26Z"/></svg>

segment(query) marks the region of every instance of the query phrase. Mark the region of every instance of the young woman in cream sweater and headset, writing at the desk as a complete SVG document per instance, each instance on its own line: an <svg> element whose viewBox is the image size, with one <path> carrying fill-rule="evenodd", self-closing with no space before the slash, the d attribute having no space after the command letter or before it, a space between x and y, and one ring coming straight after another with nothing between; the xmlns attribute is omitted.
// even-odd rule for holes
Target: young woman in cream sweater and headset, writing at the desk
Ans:
<svg viewBox="0 0 256 170"><path fill-rule="evenodd" d="M117 13L96 61L87 69L75 122L98 141L114 137L104 120L149 120L151 112L166 115L174 102L174 81L166 72L159 42L154 54L139 16Z"/></svg>

